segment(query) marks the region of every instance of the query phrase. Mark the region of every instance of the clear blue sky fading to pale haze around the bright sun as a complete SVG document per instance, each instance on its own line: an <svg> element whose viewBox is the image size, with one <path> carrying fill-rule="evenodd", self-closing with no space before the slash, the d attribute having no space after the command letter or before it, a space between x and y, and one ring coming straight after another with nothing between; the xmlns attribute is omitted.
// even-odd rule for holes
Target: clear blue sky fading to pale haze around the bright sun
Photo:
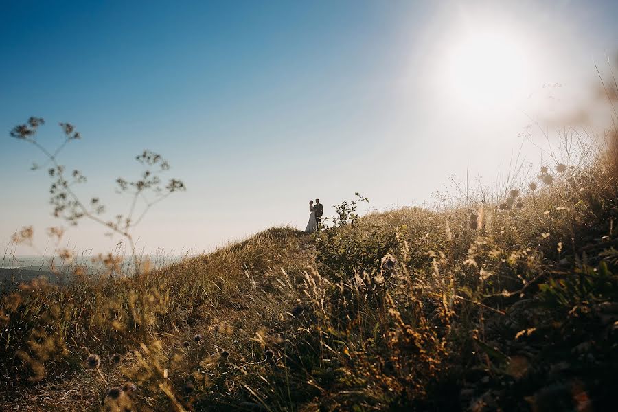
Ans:
<svg viewBox="0 0 618 412"><path fill-rule="evenodd" d="M1 0L0 240L10 250L32 225L49 253L45 228L65 225L45 170L30 170L41 154L9 136L33 115L46 147L62 141L58 122L82 134L58 161L108 216L130 207L114 188L139 174L135 155L169 161L187 191L135 228L146 253L304 229L312 198L329 216L354 192L382 210L430 204L453 174L495 185L531 122L595 98L595 62L616 67L617 17L618 2L583 0ZM63 246L121 240L104 233L82 222Z"/></svg>

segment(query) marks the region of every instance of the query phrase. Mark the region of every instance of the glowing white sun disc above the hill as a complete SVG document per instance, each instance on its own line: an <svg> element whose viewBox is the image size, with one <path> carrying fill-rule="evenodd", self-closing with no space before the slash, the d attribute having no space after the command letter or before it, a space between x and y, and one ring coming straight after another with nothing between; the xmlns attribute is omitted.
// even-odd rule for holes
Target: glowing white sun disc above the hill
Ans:
<svg viewBox="0 0 618 412"><path fill-rule="evenodd" d="M499 28L468 30L446 49L446 93L468 108L513 106L526 94L531 58L522 36Z"/></svg>

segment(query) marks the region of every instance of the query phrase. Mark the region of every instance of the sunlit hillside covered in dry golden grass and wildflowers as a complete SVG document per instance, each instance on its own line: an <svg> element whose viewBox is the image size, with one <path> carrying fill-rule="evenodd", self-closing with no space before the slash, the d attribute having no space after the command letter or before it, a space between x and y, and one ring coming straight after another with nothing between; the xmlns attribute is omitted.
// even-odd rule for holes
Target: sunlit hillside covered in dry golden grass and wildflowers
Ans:
<svg viewBox="0 0 618 412"><path fill-rule="evenodd" d="M498 198L24 285L0 311L3 409L613 409L618 151L586 159Z"/></svg>

